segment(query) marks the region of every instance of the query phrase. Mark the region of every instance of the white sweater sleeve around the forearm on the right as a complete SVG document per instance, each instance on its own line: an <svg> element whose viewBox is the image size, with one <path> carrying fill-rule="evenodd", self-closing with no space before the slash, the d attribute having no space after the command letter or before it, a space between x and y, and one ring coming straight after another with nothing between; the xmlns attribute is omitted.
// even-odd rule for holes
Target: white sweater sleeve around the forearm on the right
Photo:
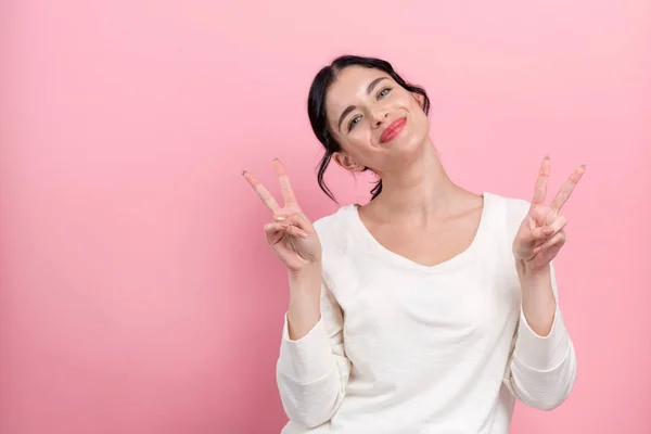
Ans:
<svg viewBox="0 0 651 434"><path fill-rule="evenodd" d="M570 395L576 376L576 356L559 309L553 264L551 280L557 310L550 333L537 335L521 308L510 360L511 392L523 404L540 410L560 406Z"/></svg>

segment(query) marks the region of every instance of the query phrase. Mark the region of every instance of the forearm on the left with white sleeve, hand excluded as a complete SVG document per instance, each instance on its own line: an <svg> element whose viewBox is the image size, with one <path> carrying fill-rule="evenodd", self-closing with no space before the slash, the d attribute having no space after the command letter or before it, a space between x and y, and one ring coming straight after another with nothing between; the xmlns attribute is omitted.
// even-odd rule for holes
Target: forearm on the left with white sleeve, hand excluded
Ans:
<svg viewBox="0 0 651 434"><path fill-rule="evenodd" d="M320 270L290 273L290 308L277 363L278 388L290 420L307 427L329 421L344 398L349 371L342 309Z"/></svg>

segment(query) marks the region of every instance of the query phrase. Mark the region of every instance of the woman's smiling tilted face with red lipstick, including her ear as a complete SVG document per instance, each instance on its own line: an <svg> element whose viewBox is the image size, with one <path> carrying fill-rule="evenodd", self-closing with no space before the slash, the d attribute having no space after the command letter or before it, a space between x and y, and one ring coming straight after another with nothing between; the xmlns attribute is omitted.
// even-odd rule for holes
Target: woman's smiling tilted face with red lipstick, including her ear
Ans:
<svg viewBox="0 0 651 434"><path fill-rule="evenodd" d="M326 95L329 129L343 150L334 159L353 171L399 170L426 142L430 123L421 103L422 97L383 71L363 66L341 71Z"/></svg>

